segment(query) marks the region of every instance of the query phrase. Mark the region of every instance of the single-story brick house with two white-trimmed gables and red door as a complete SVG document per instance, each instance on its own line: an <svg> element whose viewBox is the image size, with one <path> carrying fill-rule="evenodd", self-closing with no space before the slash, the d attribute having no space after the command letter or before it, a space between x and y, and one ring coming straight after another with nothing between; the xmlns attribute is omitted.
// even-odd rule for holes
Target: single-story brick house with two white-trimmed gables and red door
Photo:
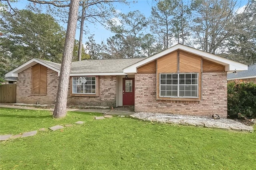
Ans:
<svg viewBox="0 0 256 170"><path fill-rule="evenodd" d="M72 62L68 105L227 117L227 72L247 65L182 44L148 58ZM60 64L31 59L6 73L17 103L55 103Z"/></svg>

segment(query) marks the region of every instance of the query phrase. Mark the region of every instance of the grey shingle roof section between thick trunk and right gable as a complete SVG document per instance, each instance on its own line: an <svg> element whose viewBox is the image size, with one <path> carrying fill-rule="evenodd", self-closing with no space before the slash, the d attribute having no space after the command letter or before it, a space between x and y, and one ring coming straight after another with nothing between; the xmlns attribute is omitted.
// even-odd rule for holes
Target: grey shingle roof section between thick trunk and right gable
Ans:
<svg viewBox="0 0 256 170"><path fill-rule="evenodd" d="M72 62L70 76L73 75L126 75L125 67L145 58L95 59Z"/></svg>

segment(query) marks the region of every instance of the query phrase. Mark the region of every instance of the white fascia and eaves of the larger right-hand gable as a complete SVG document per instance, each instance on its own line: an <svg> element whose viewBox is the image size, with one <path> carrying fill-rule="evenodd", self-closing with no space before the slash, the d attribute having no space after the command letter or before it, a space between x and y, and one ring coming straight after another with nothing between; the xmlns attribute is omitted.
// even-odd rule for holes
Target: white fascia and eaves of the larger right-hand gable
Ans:
<svg viewBox="0 0 256 170"><path fill-rule="evenodd" d="M230 59L226 59L224 57L220 57L218 55L214 55L214 54L211 54L211 53L207 53L207 52L204 52L204 51L201 51L199 49L195 49L195 48L192 48L192 47L188 47L186 45L182 45L182 44L177 44L177 45L174 45L160 53L157 53L155 55L152 55L151 57L148 57L142 61L139 61L138 63L135 63L133 65L130 65L128 67L126 67L124 69L124 73L136 73L137 72L137 68L142 66L142 65L145 65L147 63L150 63L151 61L154 61L168 53L171 53L173 51L176 51L176 50L183 50L183 51L186 51L186 52L189 52L189 53L192 53L192 54L195 54L195 55L199 55L201 56L203 59L206 59L206 60L209 60L209 61L212 61L212 62L215 62L215 63L219 63L221 65L225 65L225 71L239 71L239 70L247 70L247 65L245 64L242 64L242 63L238 63L236 61L233 61L233 60L230 60Z"/></svg>

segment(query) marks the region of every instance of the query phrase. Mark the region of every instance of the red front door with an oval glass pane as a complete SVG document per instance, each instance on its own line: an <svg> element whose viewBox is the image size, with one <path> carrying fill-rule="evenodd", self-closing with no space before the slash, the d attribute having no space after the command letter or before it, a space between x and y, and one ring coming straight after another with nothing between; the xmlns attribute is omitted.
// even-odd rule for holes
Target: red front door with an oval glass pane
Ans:
<svg viewBox="0 0 256 170"><path fill-rule="evenodd" d="M123 78L123 106L134 106L134 78Z"/></svg>

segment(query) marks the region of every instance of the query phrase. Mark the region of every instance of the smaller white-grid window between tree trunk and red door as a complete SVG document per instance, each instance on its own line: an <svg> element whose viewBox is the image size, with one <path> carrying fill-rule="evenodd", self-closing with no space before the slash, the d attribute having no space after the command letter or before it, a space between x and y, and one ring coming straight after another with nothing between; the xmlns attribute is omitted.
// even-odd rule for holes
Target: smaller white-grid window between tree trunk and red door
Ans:
<svg viewBox="0 0 256 170"><path fill-rule="evenodd" d="M96 94L96 77L72 77L73 94Z"/></svg>

